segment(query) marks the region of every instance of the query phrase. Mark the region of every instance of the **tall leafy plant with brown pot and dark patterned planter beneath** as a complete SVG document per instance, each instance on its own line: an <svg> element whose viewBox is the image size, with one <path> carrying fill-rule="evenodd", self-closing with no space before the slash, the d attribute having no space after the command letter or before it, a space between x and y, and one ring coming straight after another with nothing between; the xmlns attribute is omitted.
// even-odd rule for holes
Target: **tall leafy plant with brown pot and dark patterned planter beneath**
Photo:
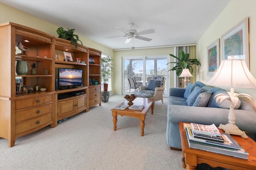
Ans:
<svg viewBox="0 0 256 170"><path fill-rule="evenodd" d="M108 92L108 81L112 76L112 67L113 58L110 56L101 58L101 81L104 85L104 91L102 92L102 102L108 102L109 92Z"/></svg>

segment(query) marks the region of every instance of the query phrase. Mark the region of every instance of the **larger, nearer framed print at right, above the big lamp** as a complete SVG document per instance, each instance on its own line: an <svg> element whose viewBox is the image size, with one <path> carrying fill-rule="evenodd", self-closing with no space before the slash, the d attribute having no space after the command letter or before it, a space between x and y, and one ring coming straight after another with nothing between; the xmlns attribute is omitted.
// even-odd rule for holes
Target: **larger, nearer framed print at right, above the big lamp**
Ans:
<svg viewBox="0 0 256 170"><path fill-rule="evenodd" d="M249 29L248 17L228 30L222 39L222 59L245 59L249 68Z"/></svg>

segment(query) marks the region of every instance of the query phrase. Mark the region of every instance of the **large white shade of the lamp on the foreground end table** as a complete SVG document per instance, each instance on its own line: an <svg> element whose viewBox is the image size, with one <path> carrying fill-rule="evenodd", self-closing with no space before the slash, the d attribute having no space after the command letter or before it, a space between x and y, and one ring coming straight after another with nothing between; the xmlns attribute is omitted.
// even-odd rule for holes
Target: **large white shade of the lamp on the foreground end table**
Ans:
<svg viewBox="0 0 256 170"><path fill-rule="evenodd" d="M256 79L243 59L222 60L218 71L206 83L230 88L256 88Z"/></svg>

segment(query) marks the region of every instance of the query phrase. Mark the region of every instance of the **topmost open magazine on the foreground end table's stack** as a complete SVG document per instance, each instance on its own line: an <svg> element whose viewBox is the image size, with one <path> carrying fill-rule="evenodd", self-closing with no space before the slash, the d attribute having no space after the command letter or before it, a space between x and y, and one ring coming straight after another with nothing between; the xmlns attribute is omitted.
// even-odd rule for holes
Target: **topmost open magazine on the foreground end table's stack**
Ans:
<svg viewBox="0 0 256 170"><path fill-rule="evenodd" d="M202 125L198 123L190 123L191 130L194 133L200 133L205 135L220 136L219 129L214 125Z"/></svg>

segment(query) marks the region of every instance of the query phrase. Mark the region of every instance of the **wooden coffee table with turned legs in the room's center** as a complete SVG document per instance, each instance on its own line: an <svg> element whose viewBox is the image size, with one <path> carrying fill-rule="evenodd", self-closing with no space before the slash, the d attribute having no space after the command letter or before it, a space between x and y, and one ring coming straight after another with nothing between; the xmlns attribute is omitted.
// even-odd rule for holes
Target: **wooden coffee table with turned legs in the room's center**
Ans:
<svg viewBox="0 0 256 170"><path fill-rule="evenodd" d="M145 127L145 117L148 113L148 110L151 108L151 114L153 114L154 110L154 99L152 98L136 98L134 101L132 101L134 105L144 105L143 110L131 110L126 108L125 110L118 110L118 109L111 109L112 116L113 116L113 123L114 123L114 131L116 131L116 123L117 123L117 116L130 116L133 118L140 119L140 133L141 136L144 136L144 127ZM122 105L128 106L128 101L121 103Z"/></svg>

